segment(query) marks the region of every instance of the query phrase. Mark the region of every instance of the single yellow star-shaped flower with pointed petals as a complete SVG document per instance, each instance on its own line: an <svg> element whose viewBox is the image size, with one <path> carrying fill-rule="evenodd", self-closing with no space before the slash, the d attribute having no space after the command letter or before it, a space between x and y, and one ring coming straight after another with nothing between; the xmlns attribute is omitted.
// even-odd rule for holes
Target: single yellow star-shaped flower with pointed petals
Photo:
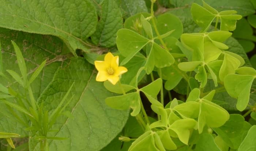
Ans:
<svg viewBox="0 0 256 151"><path fill-rule="evenodd" d="M127 72L127 68L118 67L119 57L113 56L112 53L107 53L104 61L94 61L96 69L99 71L96 81L103 82L109 80L112 84L118 82L119 75Z"/></svg>

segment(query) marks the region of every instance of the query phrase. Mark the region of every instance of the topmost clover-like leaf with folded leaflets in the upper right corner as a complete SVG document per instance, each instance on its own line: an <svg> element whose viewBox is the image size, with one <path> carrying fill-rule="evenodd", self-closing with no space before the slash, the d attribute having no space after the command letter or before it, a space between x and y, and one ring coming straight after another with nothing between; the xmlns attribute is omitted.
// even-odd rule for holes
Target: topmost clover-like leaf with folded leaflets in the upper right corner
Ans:
<svg viewBox="0 0 256 151"><path fill-rule="evenodd" d="M241 19L241 15L236 15L236 11L221 11L218 12L210 5L203 1L203 7L193 3L191 5L191 14L193 20L202 27L202 31L207 31L212 21L217 18L221 20L221 31L233 31L236 29L237 20Z"/></svg>

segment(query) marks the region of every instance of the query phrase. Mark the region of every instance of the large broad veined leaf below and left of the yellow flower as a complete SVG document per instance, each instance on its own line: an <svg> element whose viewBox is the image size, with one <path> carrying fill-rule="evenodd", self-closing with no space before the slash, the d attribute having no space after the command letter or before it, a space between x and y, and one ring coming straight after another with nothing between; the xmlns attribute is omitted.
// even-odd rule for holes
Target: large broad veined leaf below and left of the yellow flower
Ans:
<svg viewBox="0 0 256 151"><path fill-rule="evenodd" d="M115 110L105 104L105 98L113 94L103 87L103 83L95 81L93 65L82 58L73 57L69 61L69 64L56 71L52 82L38 99L39 103L44 101L49 104L46 109L52 111L60 103L59 98L63 98L69 86L75 82L70 91L70 95L75 96L66 107L66 110L71 111L72 117L58 118L58 124L53 125L53 129L58 131L48 135L69 139L52 140L49 142L49 150L72 151L83 148L84 143L88 144L85 150L101 150L121 131L129 113L127 110ZM109 115L112 115L112 118L109 119ZM117 125L113 126L113 122ZM100 130L102 123L104 127ZM99 138L101 141L98 141ZM30 150L37 150L39 144L32 146L33 139L30 139Z"/></svg>

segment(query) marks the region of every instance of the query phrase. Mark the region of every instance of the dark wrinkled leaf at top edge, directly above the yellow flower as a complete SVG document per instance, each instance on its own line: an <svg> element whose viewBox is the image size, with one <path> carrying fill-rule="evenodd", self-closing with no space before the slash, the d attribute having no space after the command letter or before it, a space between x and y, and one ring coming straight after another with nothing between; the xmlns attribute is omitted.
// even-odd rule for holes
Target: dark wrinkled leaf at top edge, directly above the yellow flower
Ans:
<svg viewBox="0 0 256 151"><path fill-rule="evenodd" d="M116 44L118 29L123 28L122 14L114 0L103 0L101 11L101 19L97 24L96 31L91 36L91 40L94 44L102 47L113 47Z"/></svg>

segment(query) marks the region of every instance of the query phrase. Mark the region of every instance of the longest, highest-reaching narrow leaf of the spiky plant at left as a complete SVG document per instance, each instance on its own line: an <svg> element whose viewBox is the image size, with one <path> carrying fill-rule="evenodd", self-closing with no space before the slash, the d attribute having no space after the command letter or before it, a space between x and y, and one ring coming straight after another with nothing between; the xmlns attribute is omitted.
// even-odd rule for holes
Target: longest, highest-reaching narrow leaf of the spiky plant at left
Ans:
<svg viewBox="0 0 256 151"><path fill-rule="evenodd" d="M12 45L14 47L14 51L15 51L15 54L16 54L16 57L17 57L17 61L18 61L20 73L22 75L23 83L24 83L24 86L26 87L26 84L27 84L27 67L26 67L26 64L25 64L25 60L23 58L23 55L22 55L18 45L14 41L12 41Z"/></svg>

